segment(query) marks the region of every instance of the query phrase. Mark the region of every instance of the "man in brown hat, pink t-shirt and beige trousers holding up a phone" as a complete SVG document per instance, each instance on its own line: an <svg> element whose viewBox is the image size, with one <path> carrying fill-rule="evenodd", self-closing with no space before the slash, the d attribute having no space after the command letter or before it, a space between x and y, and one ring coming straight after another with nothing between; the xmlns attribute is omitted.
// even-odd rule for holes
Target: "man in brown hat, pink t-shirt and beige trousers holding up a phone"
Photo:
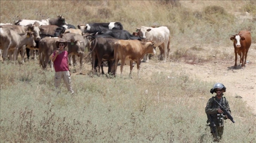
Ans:
<svg viewBox="0 0 256 143"><path fill-rule="evenodd" d="M50 59L53 61L55 76L54 76L54 86L57 88L60 86L61 79L63 79L66 84L68 91L72 94L74 93L71 87L71 72L69 70L68 63L68 52L64 50L68 42L64 39L56 41L57 50L51 54Z"/></svg>

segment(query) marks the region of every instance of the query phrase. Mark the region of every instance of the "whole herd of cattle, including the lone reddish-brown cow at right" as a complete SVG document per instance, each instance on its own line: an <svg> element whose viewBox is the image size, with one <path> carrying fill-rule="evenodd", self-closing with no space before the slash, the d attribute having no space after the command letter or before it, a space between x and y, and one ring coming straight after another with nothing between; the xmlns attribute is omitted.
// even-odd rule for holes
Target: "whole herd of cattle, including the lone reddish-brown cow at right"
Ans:
<svg viewBox="0 0 256 143"><path fill-rule="evenodd" d="M8 58L16 61L21 53L24 62L25 51L28 59L30 53L36 60L36 50L39 51L40 66L45 69L50 62L49 56L56 50L55 42L59 39L68 41L65 50L68 51L69 63L75 63L75 56L80 57L80 68L86 48L90 49L92 56L92 70L102 69L102 62L108 61L108 73L115 74L117 63L121 60L121 74L124 63L130 64L130 74L133 62L137 63L138 75L140 62L148 62L148 54L155 54L155 48L159 47L160 55L164 62L169 58L170 31L165 26L136 28L136 32L130 34L123 30L120 22L89 23L78 25L78 29L69 25L62 15L57 18L46 20L18 20L0 25L0 48L2 50L3 62ZM237 66L237 54L240 63L244 67L247 52L251 45L251 34L249 31L240 31L233 35L230 40L234 41L235 67ZM241 57L242 56L242 57Z"/></svg>

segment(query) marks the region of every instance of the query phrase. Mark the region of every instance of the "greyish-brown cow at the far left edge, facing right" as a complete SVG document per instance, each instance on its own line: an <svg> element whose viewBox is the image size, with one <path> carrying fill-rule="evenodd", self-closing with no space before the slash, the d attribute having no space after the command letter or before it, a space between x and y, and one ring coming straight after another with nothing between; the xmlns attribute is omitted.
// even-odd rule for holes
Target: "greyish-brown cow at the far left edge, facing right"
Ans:
<svg viewBox="0 0 256 143"><path fill-rule="evenodd" d="M35 37L31 32L18 33L16 30L11 28L0 28L0 45L1 49L3 49L3 61L5 61L8 50L14 51L13 58L11 58L11 53L9 58L13 61L16 61L17 53L20 50L20 47L23 45L36 46L34 39Z"/></svg>

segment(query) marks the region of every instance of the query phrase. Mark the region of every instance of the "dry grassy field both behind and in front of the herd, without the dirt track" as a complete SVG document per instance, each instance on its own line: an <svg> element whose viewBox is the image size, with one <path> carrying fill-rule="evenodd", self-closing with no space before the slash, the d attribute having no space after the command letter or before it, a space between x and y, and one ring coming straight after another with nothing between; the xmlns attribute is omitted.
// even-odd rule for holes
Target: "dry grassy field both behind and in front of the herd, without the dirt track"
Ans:
<svg viewBox="0 0 256 143"><path fill-rule="evenodd" d="M220 47L231 47L230 35L239 30L250 30L256 41L255 1L1 0L0 5L1 23L63 15L75 26L119 21L130 33L140 26L167 26L171 62L200 64L213 60L216 51L224 59L234 58ZM244 17L245 12L250 16ZM85 63L89 65L89 59ZM210 98L214 81L202 82L182 69L180 74L161 71L129 79L98 77L90 74L90 68L86 67L85 75L72 75L75 95L71 95L63 83L57 94L54 72L39 68L38 61L1 63L0 142L212 141L206 102L198 94ZM255 115L244 108L242 100L228 101L236 123L227 120L222 142L256 142Z"/></svg>

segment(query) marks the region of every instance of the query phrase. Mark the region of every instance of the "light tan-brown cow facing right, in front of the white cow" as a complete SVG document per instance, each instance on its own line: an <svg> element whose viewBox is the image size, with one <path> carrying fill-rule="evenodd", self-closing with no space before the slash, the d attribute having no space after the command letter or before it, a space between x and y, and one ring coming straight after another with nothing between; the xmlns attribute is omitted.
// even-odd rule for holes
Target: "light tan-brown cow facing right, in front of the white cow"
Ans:
<svg viewBox="0 0 256 143"><path fill-rule="evenodd" d="M125 60L130 61L130 77L132 77L133 61L137 63L139 76L140 62L145 54L156 54L154 42L141 42L139 40L118 40L114 44L114 57L115 57L115 75L118 60L121 60L121 75Z"/></svg>

